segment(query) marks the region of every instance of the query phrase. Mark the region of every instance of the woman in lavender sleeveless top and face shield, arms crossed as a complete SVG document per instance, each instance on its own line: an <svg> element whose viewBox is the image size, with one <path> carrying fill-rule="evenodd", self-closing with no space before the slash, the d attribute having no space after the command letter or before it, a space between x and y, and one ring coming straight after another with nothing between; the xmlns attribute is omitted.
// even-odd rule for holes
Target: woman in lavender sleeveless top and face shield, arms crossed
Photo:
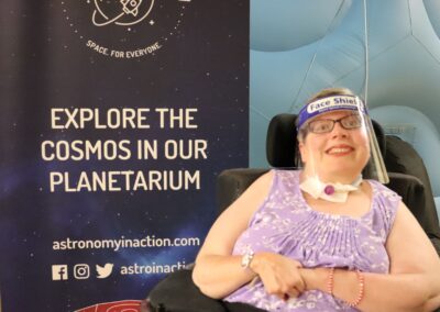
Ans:
<svg viewBox="0 0 440 312"><path fill-rule="evenodd" d="M440 260L386 181L363 102L346 89L298 115L304 169L271 170L212 225L193 279L211 298L268 311L432 311ZM415 252L417 250L417 252Z"/></svg>

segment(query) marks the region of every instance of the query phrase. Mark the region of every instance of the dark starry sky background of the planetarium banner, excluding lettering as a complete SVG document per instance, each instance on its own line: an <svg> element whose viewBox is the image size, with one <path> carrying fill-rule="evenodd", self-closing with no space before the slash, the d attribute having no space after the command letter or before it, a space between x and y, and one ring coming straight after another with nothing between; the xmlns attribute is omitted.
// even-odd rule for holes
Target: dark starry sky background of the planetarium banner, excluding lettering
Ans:
<svg viewBox="0 0 440 312"><path fill-rule="evenodd" d="M101 1L102 21L120 1ZM147 5L143 1L141 5ZM139 7L139 12L146 7ZM53 250L53 241L199 237L217 214L216 178L248 166L249 1L156 0L140 23L96 26L92 0L6 0L0 10L0 291L2 311L75 311L143 299L163 275L119 274L132 264L194 261L199 246ZM98 12L99 13L99 12ZM102 20L103 19L103 20ZM119 22L130 21L123 15ZM161 48L133 58L108 52ZM51 108L197 108L198 129L51 129ZM148 116L156 116L150 114ZM53 160L44 141L207 140L207 159ZM51 171L200 170L201 190L53 192ZM114 264L97 279L95 265ZM89 279L52 280L52 265L90 266Z"/></svg>

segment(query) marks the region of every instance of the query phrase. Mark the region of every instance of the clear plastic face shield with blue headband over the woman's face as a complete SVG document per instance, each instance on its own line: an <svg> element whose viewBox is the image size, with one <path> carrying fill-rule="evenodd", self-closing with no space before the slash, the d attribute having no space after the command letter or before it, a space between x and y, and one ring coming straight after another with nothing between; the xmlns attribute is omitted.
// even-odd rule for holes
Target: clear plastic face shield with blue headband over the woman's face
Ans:
<svg viewBox="0 0 440 312"><path fill-rule="evenodd" d="M314 198L343 202L369 178L389 181L372 121L355 96L330 96L305 105L298 114L304 175L301 189Z"/></svg>

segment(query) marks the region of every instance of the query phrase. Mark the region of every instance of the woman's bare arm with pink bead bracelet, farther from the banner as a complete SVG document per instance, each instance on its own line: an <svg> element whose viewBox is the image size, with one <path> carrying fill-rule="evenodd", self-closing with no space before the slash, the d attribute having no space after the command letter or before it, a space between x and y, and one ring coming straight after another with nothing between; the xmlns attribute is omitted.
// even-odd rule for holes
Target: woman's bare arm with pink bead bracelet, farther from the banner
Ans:
<svg viewBox="0 0 440 312"><path fill-rule="evenodd" d="M440 258L405 204L400 204L386 248L391 274L363 274L362 311L432 311L440 305ZM301 269L307 289L328 290L330 269ZM360 291L355 271L334 270L333 294L353 302Z"/></svg>

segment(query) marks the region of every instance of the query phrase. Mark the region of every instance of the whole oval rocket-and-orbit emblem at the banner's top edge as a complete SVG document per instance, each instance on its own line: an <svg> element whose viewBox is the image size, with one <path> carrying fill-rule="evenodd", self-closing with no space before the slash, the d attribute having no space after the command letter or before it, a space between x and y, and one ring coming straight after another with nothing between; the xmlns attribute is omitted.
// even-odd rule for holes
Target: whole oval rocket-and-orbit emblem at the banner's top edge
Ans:
<svg viewBox="0 0 440 312"><path fill-rule="evenodd" d="M134 25L148 16L153 5L154 0L95 0L91 22L98 27L109 24Z"/></svg>

